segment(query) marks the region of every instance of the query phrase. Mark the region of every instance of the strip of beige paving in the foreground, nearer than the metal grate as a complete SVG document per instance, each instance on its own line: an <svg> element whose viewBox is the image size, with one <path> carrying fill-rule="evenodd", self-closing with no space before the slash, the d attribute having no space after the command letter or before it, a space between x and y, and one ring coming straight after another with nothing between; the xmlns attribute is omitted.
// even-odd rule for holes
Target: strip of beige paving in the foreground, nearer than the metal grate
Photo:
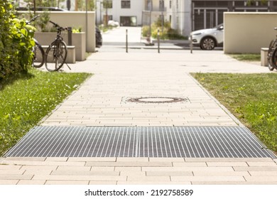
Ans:
<svg viewBox="0 0 277 199"><path fill-rule="evenodd" d="M252 158L235 158L240 161L224 162L223 164L213 161L199 162L199 159L186 158L189 164L184 164L179 160L169 158L162 161L163 158L148 161L145 158L117 158L115 161L105 161L105 158L96 158L85 164L93 164L93 166L42 166L38 161L33 159L31 166L25 166L24 163L29 161L6 161L11 168L13 163L21 166L16 170L1 170L1 184L276 184L277 183L277 165L271 166L249 166ZM219 158L218 161L220 161ZM257 158L258 163L270 162L268 158ZM195 160L195 161L194 161ZM67 163L69 160L65 161ZM46 164L49 161L41 161ZM256 162L256 161L255 161ZM53 161L57 163L57 161ZM225 164L227 163L227 165ZM239 166L236 166L239 163ZM242 163L242 164L241 164ZM271 160L271 163L275 163ZM96 164L97 166L94 166ZM176 165L177 164L177 165ZM241 164L241 165L240 165ZM89 169L88 169L89 168ZM11 171L17 171L15 173ZM40 173L42 172L42 173ZM46 173L45 173L46 172Z"/></svg>

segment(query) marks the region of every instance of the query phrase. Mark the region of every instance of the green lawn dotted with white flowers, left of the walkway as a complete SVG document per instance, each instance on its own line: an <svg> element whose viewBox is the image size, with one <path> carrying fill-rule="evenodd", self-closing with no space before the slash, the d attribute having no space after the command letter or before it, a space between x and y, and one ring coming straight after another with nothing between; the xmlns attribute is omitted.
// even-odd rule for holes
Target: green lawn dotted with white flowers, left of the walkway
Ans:
<svg viewBox="0 0 277 199"><path fill-rule="evenodd" d="M0 81L0 156L89 77L31 68Z"/></svg>

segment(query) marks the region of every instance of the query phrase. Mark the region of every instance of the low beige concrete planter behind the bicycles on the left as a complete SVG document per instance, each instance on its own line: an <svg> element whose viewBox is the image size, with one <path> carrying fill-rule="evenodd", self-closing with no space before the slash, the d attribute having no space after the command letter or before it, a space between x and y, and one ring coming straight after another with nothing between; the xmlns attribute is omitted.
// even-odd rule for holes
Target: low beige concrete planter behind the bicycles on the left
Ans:
<svg viewBox="0 0 277 199"><path fill-rule="evenodd" d="M40 45L50 45L55 40L57 33L35 33L35 38ZM68 34L62 33L63 40L68 44ZM72 33L72 45L75 45L75 58L77 61L86 58L86 36L85 33Z"/></svg>

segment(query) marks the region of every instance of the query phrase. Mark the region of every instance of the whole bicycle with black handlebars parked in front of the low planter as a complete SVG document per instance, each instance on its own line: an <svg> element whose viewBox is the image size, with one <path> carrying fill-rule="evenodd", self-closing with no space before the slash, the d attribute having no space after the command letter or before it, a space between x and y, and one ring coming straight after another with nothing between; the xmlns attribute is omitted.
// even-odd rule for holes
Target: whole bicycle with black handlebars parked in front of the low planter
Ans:
<svg viewBox="0 0 277 199"><path fill-rule="evenodd" d="M62 26L59 26L58 23L55 23L53 21L49 22L53 23L55 28L57 28L57 37L48 46L45 52L45 68L48 71L53 72L58 71L60 70L60 68L62 68L67 57L67 44L65 43L65 41L63 41L63 37L61 36L62 31L66 31L67 28L63 28ZM71 70L68 65L67 67Z"/></svg>

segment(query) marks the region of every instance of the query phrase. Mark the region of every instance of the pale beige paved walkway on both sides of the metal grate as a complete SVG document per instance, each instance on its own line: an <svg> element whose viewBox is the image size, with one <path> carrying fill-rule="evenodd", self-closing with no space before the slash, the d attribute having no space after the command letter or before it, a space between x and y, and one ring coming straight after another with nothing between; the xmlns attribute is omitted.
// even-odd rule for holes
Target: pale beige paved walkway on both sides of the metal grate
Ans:
<svg viewBox="0 0 277 199"><path fill-rule="evenodd" d="M105 48L105 47L104 47ZM70 72L92 72L43 126L237 126L189 72L269 72L221 51L99 49ZM67 71L67 68L65 69ZM141 104L130 97L183 97ZM0 158L0 184L277 184L272 158Z"/></svg>

